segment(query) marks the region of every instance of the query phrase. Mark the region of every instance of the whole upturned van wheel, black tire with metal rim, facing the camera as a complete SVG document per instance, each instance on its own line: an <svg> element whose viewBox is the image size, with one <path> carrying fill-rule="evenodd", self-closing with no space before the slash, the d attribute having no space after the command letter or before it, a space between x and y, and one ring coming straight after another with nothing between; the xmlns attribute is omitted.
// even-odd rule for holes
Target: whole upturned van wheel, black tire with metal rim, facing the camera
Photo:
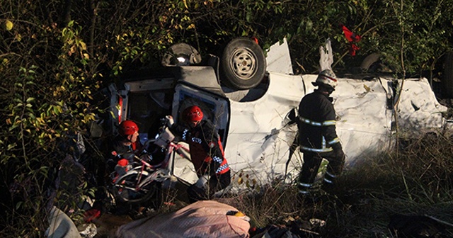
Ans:
<svg viewBox="0 0 453 238"><path fill-rule="evenodd" d="M251 89L264 78L266 58L260 45L250 38L234 38L223 50L220 81L231 89Z"/></svg>

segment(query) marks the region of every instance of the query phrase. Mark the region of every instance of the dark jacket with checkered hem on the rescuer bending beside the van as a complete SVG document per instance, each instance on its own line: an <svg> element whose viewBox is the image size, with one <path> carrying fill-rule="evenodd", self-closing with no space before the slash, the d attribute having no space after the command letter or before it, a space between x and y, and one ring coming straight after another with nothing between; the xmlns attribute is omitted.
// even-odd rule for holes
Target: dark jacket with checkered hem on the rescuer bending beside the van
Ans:
<svg viewBox="0 0 453 238"><path fill-rule="evenodd" d="M202 120L195 128L175 124L171 131L189 144L190 159L198 176L220 175L229 171L220 136L210 121Z"/></svg>

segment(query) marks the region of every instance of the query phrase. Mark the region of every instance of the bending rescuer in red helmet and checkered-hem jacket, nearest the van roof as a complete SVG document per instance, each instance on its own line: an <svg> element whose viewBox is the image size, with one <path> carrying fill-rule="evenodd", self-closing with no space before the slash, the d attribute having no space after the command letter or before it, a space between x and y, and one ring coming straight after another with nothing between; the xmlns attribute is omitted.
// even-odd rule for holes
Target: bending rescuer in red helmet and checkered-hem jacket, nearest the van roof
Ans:
<svg viewBox="0 0 453 238"><path fill-rule="evenodd" d="M173 124L171 131L188 143L190 159L199 178L188 188L190 203L210 199L231 182L220 136L210 120L203 120L198 106L185 108L181 119L183 124Z"/></svg>

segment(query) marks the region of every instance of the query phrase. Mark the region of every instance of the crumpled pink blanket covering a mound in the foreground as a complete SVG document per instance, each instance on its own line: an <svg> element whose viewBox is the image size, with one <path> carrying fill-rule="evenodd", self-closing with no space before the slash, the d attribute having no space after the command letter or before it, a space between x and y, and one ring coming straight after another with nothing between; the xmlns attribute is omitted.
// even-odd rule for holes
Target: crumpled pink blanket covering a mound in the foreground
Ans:
<svg viewBox="0 0 453 238"><path fill-rule="evenodd" d="M203 200L176 212L122 225L115 237L250 237L248 220L230 205Z"/></svg>

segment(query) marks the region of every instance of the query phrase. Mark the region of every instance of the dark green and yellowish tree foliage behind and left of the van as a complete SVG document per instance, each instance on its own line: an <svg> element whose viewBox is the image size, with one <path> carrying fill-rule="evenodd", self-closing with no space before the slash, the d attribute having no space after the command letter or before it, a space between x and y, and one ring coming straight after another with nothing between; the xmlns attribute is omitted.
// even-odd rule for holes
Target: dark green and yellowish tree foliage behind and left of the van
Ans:
<svg viewBox="0 0 453 238"><path fill-rule="evenodd" d="M381 52L395 68L404 62L420 72L451 49L452 10L452 0L4 0L2 223L11 234L42 237L43 211L54 201L48 188L67 154L78 156L77 135L103 113L93 100L99 89L122 72L159 67L173 43L218 55L237 36L255 36L265 49L287 38L295 72L309 73L330 38L338 69ZM340 24L362 35L355 57Z"/></svg>

